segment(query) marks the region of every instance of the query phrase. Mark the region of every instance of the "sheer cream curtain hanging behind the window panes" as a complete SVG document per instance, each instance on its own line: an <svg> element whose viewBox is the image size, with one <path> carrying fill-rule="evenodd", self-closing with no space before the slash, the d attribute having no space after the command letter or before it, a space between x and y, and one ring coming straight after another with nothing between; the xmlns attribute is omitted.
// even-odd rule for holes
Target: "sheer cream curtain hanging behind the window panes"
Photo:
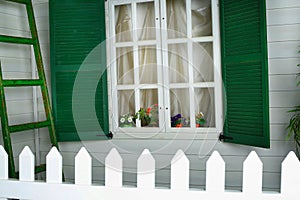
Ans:
<svg viewBox="0 0 300 200"><path fill-rule="evenodd" d="M197 3L198 2L198 3ZM211 35L211 16L210 5L207 0L196 1L192 6L192 36ZM139 8L139 7L138 7ZM139 40L155 39L155 16L153 4L141 6L142 12L138 12L137 30ZM116 34L117 42L126 42L133 40L131 6L122 5L116 9ZM141 20L142 19L142 20ZM167 0L167 25L168 38L186 38L187 37L187 13L185 0ZM156 47L139 47L139 83L156 84L157 66L156 66ZM134 84L134 65L133 48L117 49L117 73L118 84ZM193 66L194 83L213 81L213 61L212 44L201 43L193 44L192 60L188 60L187 44L168 45L169 62L169 81L172 83L188 83L189 63ZM137 78L137 77L136 77ZM214 126L214 103L213 90L196 88L194 95L195 113L203 112L207 120L207 126ZM189 90L172 89L170 91L171 116L180 113L189 119L190 99ZM119 115L135 113L134 91L119 91ZM141 107L149 107L158 103L157 90L141 90Z"/></svg>

